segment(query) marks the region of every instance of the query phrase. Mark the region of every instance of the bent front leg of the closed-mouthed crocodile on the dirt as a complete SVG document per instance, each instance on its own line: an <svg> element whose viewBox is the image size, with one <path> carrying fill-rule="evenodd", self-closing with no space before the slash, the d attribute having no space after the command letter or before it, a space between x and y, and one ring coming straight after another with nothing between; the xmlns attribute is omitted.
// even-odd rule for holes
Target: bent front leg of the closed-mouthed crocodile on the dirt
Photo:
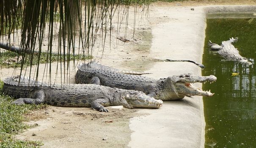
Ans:
<svg viewBox="0 0 256 148"><path fill-rule="evenodd" d="M110 106L110 103L107 99L104 98L96 99L91 103L91 107L100 112L108 112L108 110L105 108L108 106Z"/></svg>

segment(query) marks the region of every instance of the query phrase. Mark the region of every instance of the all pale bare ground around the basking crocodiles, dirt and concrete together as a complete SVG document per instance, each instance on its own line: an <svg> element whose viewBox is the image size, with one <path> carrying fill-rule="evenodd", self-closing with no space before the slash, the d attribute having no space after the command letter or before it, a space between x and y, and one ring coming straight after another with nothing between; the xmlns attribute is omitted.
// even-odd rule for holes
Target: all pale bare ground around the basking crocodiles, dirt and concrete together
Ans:
<svg viewBox="0 0 256 148"><path fill-rule="evenodd" d="M205 14L223 9L232 11L233 7L212 6L231 4L255 5L256 2L193 0L154 3L150 6L149 21L140 22L135 28L134 38L141 38L139 41L124 44L116 40L118 36L114 36L111 40L113 45L105 48L104 56L101 58L101 46L96 46L94 57L107 66L152 72L148 76L153 78L187 72L201 75L201 69L192 63L164 63L154 59L189 59L200 63L206 27ZM192 7L194 11L190 10ZM132 28L133 25L129 24L126 38L130 40L134 39ZM57 66L57 63L52 66ZM70 78L65 79L66 82L74 83L72 77L75 71L76 69L71 69ZM60 82L60 71L56 77L55 73L57 72L53 70L54 77L51 81ZM0 78L4 79L12 74L13 69L1 69ZM42 76L43 71L39 75ZM107 107L110 110L108 113L91 108L49 107L28 115L36 119L30 121L30 124L37 123L38 126L20 133L17 138L41 140L45 148L204 147L205 123L201 99L196 96L186 97L182 101L165 101L156 110ZM37 120L36 116L41 119Z"/></svg>

